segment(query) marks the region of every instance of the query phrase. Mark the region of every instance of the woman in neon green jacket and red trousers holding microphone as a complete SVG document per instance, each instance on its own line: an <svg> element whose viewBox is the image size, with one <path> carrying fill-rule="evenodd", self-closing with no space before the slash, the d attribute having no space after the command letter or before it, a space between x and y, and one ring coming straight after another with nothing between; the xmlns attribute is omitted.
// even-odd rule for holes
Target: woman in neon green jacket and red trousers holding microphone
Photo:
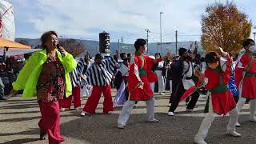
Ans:
<svg viewBox="0 0 256 144"><path fill-rule="evenodd" d="M42 50L34 52L13 83L13 93L24 90L22 97L37 96L42 118L38 123L40 139L48 134L49 143L63 142L60 134L60 110L58 100L72 93L69 72L76 62L61 46L58 34L48 31L41 37Z"/></svg>

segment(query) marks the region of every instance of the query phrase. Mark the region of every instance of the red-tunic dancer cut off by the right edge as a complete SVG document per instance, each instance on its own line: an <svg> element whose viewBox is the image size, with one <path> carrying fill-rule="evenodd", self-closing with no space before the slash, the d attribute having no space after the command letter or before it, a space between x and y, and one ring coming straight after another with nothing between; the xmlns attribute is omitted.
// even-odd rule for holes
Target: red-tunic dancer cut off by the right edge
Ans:
<svg viewBox="0 0 256 144"><path fill-rule="evenodd" d="M238 100L238 111L242 110L242 106L246 103L246 98L250 99L250 121L256 122L256 60L254 58L255 43L252 39L246 39L242 46L246 50L238 58L238 63L235 67L234 81L240 91ZM237 126L240 124L237 122Z"/></svg>

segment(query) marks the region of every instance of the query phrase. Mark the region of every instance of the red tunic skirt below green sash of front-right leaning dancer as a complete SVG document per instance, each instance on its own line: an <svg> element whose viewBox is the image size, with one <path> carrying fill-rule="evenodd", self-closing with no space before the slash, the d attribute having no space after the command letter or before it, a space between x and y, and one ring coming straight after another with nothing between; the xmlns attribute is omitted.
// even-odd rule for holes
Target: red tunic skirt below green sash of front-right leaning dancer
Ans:
<svg viewBox="0 0 256 144"><path fill-rule="evenodd" d="M236 107L236 103L234 102L234 98L230 90L211 93L211 102L214 113L217 114L226 115L230 110L233 110Z"/></svg>

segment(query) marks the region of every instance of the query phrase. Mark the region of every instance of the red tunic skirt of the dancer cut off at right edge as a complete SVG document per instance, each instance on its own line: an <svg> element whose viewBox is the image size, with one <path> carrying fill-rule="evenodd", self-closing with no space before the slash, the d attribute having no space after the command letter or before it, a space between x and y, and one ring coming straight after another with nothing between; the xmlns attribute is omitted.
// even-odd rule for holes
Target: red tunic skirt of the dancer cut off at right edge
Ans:
<svg viewBox="0 0 256 144"><path fill-rule="evenodd" d="M245 77L242 82L242 97L256 99L256 77Z"/></svg>

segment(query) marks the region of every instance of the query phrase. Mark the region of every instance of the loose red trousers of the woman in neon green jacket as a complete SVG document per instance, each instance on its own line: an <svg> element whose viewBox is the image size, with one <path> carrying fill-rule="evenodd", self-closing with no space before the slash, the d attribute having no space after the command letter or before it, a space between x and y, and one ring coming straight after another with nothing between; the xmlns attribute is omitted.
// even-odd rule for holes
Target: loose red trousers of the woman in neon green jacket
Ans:
<svg viewBox="0 0 256 144"><path fill-rule="evenodd" d="M59 121L60 111L58 101L56 102L42 102L39 103L42 118L38 126L40 130L48 134L50 144L57 144L64 141L60 134Z"/></svg>

